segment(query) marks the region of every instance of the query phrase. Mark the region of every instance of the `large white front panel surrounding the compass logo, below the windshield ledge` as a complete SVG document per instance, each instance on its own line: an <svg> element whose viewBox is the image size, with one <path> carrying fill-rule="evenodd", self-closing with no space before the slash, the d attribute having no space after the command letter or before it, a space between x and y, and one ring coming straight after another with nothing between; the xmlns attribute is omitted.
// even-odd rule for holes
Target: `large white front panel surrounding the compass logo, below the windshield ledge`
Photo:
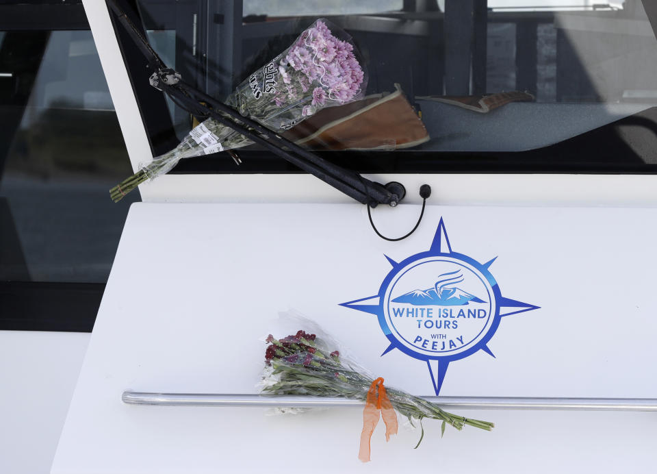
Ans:
<svg viewBox="0 0 657 474"><path fill-rule="evenodd" d="M428 249L441 216L454 251L486 261L505 297L541 306L506 316L489 347L450 365L442 395L655 397L652 340L657 210L431 206L417 233L384 242L359 205L133 205L107 284L54 474L289 472L647 472L657 414L464 412L492 433L426 422L356 459L359 410L265 416L259 409L126 406L123 390L255 392L276 311L294 307L391 385L430 395L426 364L374 316L338 306L373 295ZM385 232L416 206L386 212ZM394 222L393 222L394 221ZM144 242L149 242L147 245ZM621 447L622 446L622 447Z"/></svg>

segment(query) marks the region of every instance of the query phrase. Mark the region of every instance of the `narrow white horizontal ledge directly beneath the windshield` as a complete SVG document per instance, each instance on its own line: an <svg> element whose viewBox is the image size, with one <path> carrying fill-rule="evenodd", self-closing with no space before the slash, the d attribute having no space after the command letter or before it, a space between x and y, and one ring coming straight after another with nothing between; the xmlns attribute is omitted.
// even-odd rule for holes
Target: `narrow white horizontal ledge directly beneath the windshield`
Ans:
<svg viewBox="0 0 657 474"><path fill-rule="evenodd" d="M407 188L404 203L441 205L657 207L656 175L366 175ZM144 201L166 203L353 203L311 175L164 175L140 188ZM380 206L374 212L383 212ZM417 211L419 213L419 210Z"/></svg>

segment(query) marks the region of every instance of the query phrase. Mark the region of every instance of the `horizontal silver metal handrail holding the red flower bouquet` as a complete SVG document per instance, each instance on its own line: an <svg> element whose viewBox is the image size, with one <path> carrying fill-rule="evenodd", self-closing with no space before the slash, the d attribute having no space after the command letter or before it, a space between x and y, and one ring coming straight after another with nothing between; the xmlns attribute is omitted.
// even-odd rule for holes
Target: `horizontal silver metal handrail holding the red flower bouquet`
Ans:
<svg viewBox="0 0 657 474"><path fill-rule="evenodd" d="M444 408L480 410L604 410L657 412L657 399L556 397L422 397ZM362 400L331 397L229 395L216 393L123 392L131 405L264 408L329 408L362 406Z"/></svg>

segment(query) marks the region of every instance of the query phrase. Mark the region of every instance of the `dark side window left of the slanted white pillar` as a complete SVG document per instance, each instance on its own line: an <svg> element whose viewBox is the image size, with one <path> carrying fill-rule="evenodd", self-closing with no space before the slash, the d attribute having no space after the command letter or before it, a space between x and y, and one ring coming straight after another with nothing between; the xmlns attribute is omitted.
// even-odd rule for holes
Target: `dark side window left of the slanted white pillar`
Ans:
<svg viewBox="0 0 657 474"><path fill-rule="evenodd" d="M131 169L91 32L3 32L0 72L0 280L107 281Z"/></svg>

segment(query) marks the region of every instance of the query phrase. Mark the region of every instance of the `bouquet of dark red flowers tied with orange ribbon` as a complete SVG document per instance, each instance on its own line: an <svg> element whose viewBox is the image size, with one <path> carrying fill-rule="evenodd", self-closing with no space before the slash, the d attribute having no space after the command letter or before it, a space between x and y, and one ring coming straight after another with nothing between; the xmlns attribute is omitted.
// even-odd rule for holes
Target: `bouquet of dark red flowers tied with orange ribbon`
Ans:
<svg viewBox="0 0 657 474"><path fill-rule="evenodd" d="M466 419L448 413L421 397L384 387L381 377L368 377L355 361L335 349L335 343L329 336L318 338L315 334L300 330L282 339L275 339L270 334L266 342L269 345L265 351L263 393L346 397L365 401L359 452L359 459L363 462L370 460L370 437L378 423L379 414L386 425L386 439L397 433L395 411L406 416L413 426L415 421L419 421L422 427L424 418L441 420L442 432L446 425L456 429L463 429L465 425L489 431L493 428L493 423L488 421ZM424 428L420 442L423 437Z"/></svg>

